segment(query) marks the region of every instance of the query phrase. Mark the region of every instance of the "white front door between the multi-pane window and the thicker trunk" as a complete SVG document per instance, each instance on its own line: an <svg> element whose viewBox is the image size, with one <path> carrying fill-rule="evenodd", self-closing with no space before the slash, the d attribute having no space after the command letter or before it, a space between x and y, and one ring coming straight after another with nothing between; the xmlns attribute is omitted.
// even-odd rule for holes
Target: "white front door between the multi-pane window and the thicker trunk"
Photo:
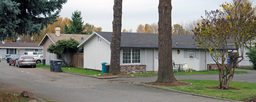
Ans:
<svg viewBox="0 0 256 102"><path fill-rule="evenodd" d="M154 54L153 54L153 49L146 49L146 71L153 71L153 66L154 66L154 62L153 59L154 58Z"/></svg>

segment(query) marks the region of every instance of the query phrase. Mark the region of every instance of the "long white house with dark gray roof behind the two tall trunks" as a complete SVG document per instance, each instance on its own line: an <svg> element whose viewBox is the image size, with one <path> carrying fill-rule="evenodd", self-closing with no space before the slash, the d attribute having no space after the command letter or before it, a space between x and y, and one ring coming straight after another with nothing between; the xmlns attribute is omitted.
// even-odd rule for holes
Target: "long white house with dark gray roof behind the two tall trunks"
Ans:
<svg viewBox="0 0 256 102"><path fill-rule="evenodd" d="M101 70L101 63L110 63L112 32L93 32L78 47L84 47L84 68ZM186 62L192 69L214 67L210 53L197 49L192 35L172 35L172 58L175 64ZM230 47L232 48L232 47ZM120 68L123 73L158 71L158 34L121 33ZM172 63L172 62L170 62Z"/></svg>

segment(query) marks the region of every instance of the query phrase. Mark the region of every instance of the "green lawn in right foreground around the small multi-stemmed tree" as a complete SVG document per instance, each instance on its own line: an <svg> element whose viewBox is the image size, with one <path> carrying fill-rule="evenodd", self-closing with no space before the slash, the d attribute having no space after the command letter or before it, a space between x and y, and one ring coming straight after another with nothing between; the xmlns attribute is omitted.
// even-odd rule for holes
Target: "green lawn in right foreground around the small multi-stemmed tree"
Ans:
<svg viewBox="0 0 256 102"><path fill-rule="evenodd" d="M218 87L217 80L179 80L184 82L191 82L192 85L165 87L168 89L175 89L189 93L196 93L201 95L226 98L231 100L242 101L247 98L256 97L256 84L246 82L231 82L230 88L238 90L216 90L209 89L209 87ZM164 87L164 86L161 86Z"/></svg>

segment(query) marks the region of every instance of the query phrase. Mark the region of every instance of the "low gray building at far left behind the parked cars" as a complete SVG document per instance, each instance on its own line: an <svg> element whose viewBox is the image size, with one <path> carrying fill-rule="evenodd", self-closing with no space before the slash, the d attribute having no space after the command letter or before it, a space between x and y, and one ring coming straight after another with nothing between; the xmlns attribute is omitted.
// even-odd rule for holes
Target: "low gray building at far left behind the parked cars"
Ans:
<svg viewBox="0 0 256 102"><path fill-rule="evenodd" d="M0 57L6 58L6 55L19 54L24 55L26 51L43 52L43 46L38 46L35 42L4 42L0 43Z"/></svg>

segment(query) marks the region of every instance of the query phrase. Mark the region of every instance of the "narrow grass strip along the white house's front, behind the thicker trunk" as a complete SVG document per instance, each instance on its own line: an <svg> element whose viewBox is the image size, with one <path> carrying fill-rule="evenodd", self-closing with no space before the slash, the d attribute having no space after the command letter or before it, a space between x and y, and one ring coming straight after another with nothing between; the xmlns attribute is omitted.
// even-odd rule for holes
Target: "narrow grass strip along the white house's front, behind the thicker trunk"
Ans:
<svg viewBox="0 0 256 102"><path fill-rule="evenodd" d="M187 73L185 72L174 72L174 75L202 75L202 74L218 74L217 71L192 71L192 73L189 71ZM246 71L235 71L235 73L247 73ZM138 73L138 74L131 74L133 76L157 76L157 73Z"/></svg>

